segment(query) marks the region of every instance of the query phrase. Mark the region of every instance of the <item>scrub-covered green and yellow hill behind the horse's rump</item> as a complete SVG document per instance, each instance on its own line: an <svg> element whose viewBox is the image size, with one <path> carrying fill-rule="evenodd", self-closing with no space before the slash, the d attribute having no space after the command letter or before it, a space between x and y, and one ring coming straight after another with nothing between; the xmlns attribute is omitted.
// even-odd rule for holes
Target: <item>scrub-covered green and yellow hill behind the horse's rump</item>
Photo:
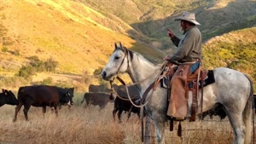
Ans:
<svg viewBox="0 0 256 144"><path fill-rule="evenodd" d="M208 69L227 66L244 72L256 89L256 27L210 39L203 46L203 62Z"/></svg>

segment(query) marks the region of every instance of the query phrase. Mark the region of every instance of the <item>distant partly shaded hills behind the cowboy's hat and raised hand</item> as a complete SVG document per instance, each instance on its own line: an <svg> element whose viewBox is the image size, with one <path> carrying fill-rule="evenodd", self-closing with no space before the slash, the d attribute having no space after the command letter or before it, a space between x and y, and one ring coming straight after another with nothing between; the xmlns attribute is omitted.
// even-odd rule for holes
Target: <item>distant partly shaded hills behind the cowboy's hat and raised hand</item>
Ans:
<svg viewBox="0 0 256 144"><path fill-rule="evenodd" d="M129 31L151 47L170 49L173 47L166 37L166 28L171 28L178 36L179 22L174 18L183 11L192 11L201 23L204 41L226 32L254 26L256 23L256 1L234 0L79 0L106 14L114 14L131 25L136 32ZM156 42L158 42L156 44Z"/></svg>

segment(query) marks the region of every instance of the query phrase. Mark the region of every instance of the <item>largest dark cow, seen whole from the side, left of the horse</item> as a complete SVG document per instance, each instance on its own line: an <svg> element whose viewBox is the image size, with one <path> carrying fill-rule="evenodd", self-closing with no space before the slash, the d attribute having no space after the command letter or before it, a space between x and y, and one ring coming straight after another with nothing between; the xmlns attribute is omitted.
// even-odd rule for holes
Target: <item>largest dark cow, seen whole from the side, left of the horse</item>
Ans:
<svg viewBox="0 0 256 144"><path fill-rule="evenodd" d="M27 112L31 106L43 107L43 113L46 112L46 106L55 107L55 113L58 115L57 107L59 104L73 105L73 89L62 89L56 86L34 85L20 87L18 90L19 105L15 108L15 118L24 105L24 115L28 120Z"/></svg>

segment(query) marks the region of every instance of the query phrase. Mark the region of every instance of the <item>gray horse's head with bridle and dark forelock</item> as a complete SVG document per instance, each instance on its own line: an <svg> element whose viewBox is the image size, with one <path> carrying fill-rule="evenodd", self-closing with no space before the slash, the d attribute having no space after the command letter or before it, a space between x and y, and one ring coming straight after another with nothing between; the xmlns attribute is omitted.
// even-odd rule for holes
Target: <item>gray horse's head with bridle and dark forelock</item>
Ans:
<svg viewBox="0 0 256 144"><path fill-rule="evenodd" d="M126 49L122 43L114 43L115 49L110 56L108 63L102 70L102 78L108 81L113 80L119 72L126 72L129 66L128 49Z"/></svg>

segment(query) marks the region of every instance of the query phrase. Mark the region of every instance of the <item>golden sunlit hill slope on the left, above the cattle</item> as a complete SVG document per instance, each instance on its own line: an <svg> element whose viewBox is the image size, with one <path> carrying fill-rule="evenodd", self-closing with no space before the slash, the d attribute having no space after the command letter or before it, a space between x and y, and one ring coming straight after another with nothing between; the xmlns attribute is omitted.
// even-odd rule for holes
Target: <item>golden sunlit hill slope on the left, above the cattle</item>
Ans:
<svg viewBox="0 0 256 144"><path fill-rule="evenodd" d="M119 27L119 21L109 19L83 3L68 0L1 3L1 65L9 66L9 72L26 65L27 57L37 55L40 60L53 58L58 61L57 72L92 73L105 65L113 51L113 43L119 41L129 49L148 51L148 47L125 33L111 29ZM126 25L118 31L121 29L132 28ZM150 57L157 59L162 54L155 52Z"/></svg>

